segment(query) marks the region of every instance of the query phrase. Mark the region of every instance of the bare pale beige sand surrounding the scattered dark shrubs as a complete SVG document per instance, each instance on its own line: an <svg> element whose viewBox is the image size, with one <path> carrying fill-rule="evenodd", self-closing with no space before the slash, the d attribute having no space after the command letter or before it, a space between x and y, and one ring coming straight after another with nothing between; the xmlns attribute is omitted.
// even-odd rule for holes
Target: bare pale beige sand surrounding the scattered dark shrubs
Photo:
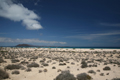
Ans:
<svg viewBox="0 0 120 80"><path fill-rule="evenodd" d="M24 56L20 56L20 54L25 54L29 55L31 54L33 56L39 56L43 55L42 57L38 57L36 59L36 63L38 63L40 66L40 60L43 60L43 58L46 59L45 63L47 61L51 60L49 66L44 66L43 68L37 67L37 68L31 68L32 71L26 72L25 70L21 70L20 74L15 75L11 74L13 70L7 70L7 72L10 75L10 79L5 79L5 80L53 80L58 76L61 72L57 72L58 69L61 69L62 71L64 70L69 70L71 74L73 74L75 77L77 74L80 73L87 73L89 74L93 80L111 80L113 78L120 78L120 67L118 67L117 64L107 64L104 65L103 61L109 62L109 60L112 60L113 62L120 62L120 58L117 58L120 55L120 49L62 49L62 48L4 48L2 49L3 51L8 51L10 54L13 53L19 53L18 58L20 62L23 60L29 61L29 58L24 58ZM6 52L7 53L7 52ZM115 53L115 54L113 54ZM112 56L111 56L112 55ZM1 56L3 57L3 56ZM48 59L50 57L51 59ZM59 61L57 59L54 60L54 58L60 59L60 57L63 57L64 59L68 59L68 61L64 61L61 63L66 63L66 65L60 66ZM120 57L120 56L119 56ZM8 64L18 64L17 63L11 63L11 59L5 59L7 63L0 63L0 68L4 69L5 66ZM97 67L87 67L87 68L81 68L81 60L82 59L88 59L86 61L92 61L94 60L93 63L88 63L90 64L97 64ZM96 61L96 59L102 59L102 62ZM31 63L33 61L29 61ZM69 62L69 63L68 63ZM74 62L75 64L72 65L71 62ZM56 64L53 64L56 63ZM115 65L115 66L114 66ZM56 69L52 69L52 67L56 67ZM69 66L70 68L67 68ZM109 66L111 70L109 71L104 71L103 68L105 66ZM27 68L27 66L25 65ZM41 72L39 73L39 70L44 70L47 69L47 72ZM79 69L79 70L78 70ZM89 70L94 70L96 74L91 74L88 73ZM97 72L97 70L100 70L100 72ZM100 73L104 73L104 76L100 76ZM106 75L109 73L109 75Z"/></svg>

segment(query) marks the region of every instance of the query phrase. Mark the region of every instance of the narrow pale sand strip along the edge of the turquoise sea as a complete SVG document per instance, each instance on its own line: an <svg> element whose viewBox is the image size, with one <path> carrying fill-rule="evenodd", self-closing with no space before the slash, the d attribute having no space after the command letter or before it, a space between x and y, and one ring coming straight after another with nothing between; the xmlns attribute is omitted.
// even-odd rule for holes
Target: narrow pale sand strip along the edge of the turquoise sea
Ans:
<svg viewBox="0 0 120 80"><path fill-rule="evenodd" d="M60 51L91 51L91 52L94 52L94 51L120 51L120 49L106 49L106 48L103 48L103 49L99 49L99 48L43 48L43 47L2 47L2 48L5 48L5 49L23 49L23 50L60 50Z"/></svg>

